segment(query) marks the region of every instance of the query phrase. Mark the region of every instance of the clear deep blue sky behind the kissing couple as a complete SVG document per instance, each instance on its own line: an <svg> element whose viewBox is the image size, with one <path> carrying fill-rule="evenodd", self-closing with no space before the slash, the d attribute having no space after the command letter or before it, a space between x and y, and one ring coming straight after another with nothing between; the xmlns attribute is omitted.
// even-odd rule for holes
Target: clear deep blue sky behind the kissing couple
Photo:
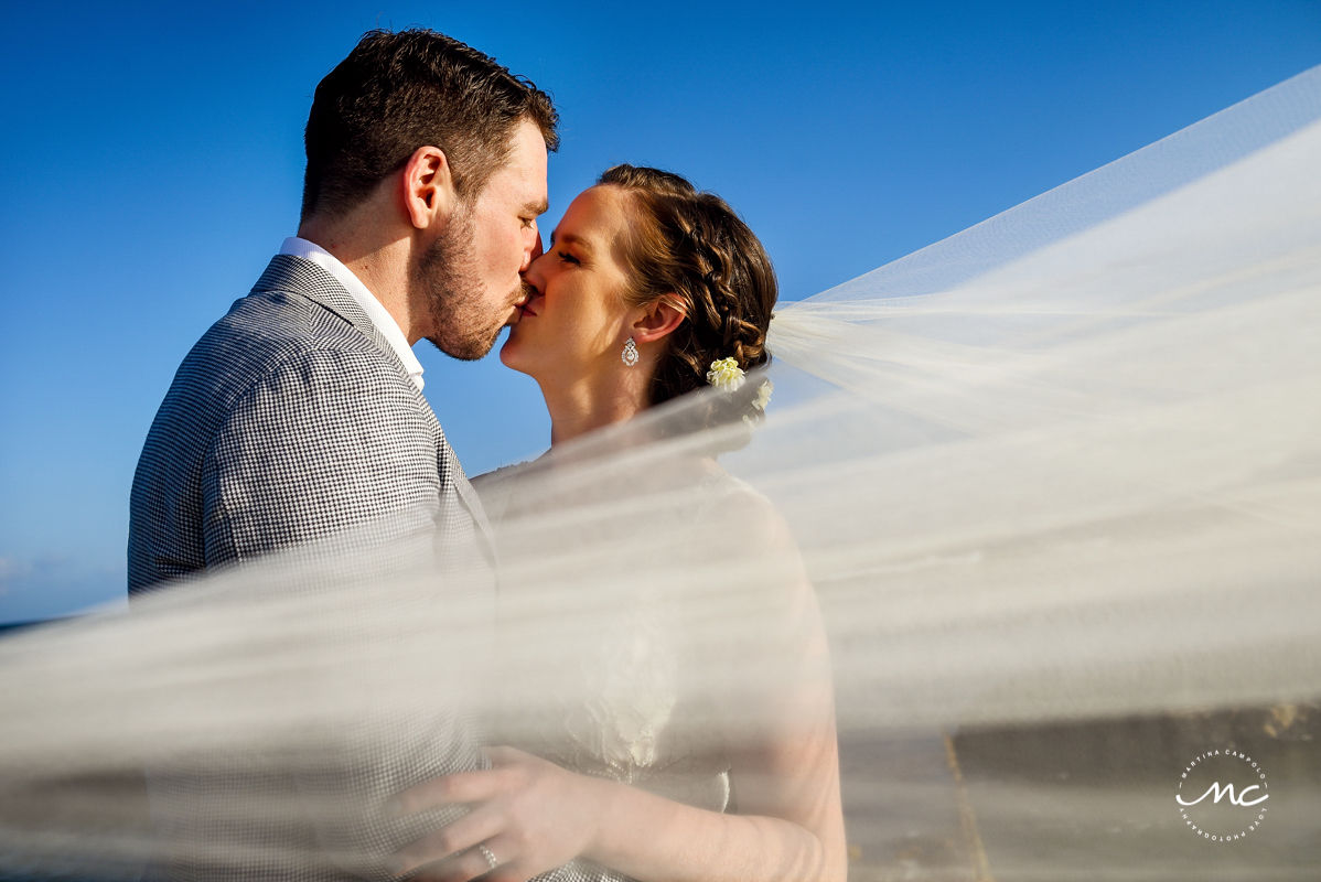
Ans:
<svg viewBox="0 0 1321 882"><path fill-rule="evenodd" d="M11 4L0 36L0 622L122 597L174 368L297 220L317 81L423 25L552 92L548 224L620 161L716 190L798 298L1321 63L1321 3ZM417 347L470 473L535 386Z"/></svg>

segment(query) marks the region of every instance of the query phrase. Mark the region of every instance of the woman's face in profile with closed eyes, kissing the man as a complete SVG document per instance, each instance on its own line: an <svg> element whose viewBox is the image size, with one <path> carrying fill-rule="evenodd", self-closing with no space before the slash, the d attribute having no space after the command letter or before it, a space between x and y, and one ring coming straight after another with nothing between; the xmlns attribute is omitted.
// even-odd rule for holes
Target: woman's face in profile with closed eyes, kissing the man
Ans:
<svg viewBox="0 0 1321 882"><path fill-rule="evenodd" d="M535 289L501 349L501 360L544 387L622 370L629 338L625 242L627 194L609 185L584 190L524 276Z"/></svg>

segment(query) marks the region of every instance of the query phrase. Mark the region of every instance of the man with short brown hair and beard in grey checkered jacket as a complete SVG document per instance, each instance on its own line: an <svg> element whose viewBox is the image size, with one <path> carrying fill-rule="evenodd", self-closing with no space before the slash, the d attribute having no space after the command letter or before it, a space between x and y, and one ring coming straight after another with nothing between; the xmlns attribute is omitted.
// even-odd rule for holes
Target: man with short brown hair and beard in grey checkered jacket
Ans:
<svg viewBox="0 0 1321 882"><path fill-rule="evenodd" d="M490 566L481 504L421 395L411 346L427 338L477 359L517 321L520 271L540 250L555 124L544 92L427 30L369 33L321 82L299 235L184 359L143 448L132 594L336 536L366 553L423 536L443 560ZM456 589L437 576L441 601L446 590ZM168 871L318 881L359 871L305 860L328 842L383 864L420 834L379 812L386 799L481 762L445 708L419 712L435 725L408 743L384 738L370 767L321 775L361 805L334 829L235 816L244 797L306 794L293 772L273 783L254 772L252 757L153 770L153 815L174 853ZM226 849L254 862L199 864L199 852ZM281 854L301 857L284 866Z"/></svg>

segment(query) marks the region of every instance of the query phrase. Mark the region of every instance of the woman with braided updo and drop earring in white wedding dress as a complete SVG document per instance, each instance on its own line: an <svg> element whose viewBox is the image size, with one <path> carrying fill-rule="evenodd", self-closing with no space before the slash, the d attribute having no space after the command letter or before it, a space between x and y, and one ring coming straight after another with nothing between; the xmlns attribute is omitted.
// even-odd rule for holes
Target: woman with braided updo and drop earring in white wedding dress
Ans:
<svg viewBox="0 0 1321 882"><path fill-rule="evenodd" d="M701 409L704 429L754 424L766 407L769 387L744 374L770 358L774 271L729 206L684 178L630 165L609 169L569 205L526 281L530 298L501 359L540 386L553 452L708 384L720 391ZM534 514L526 474L553 470L552 459L476 482L497 531ZM783 556L791 548L770 503L721 470L712 452L678 462L682 467L663 475L633 475L633 489L675 482L694 490L695 502L678 512L647 512L626 532L646 533L657 519L678 518L695 533L728 526L742 553L762 547ZM672 535L672 527L657 535ZM501 553L503 564L510 555L528 557L526 547ZM621 572L630 568L620 564ZM686 589L674 585L658 597L624 585L609 603L605 632L564 665L588 673L585 692L551 702L543 714L518 709L522 726L507 734L526 751L490 749L490 770L399 796L403 812L472 805L402 853L399 869L458 852L433 878L494 871L490 878L526 879L584 858L638 879L843 879L826 638L801 564L785 572L765 585L764 609L745 611L785 617L785 639L768 632L771 644L761 660L782 675L774 695L768 689L760 710L746 706L746 696L738 702L741 714L757 717L757 738L732 731L738 722L721 721L684 685L703 676L684 660L709 655L667 614L686 603L679 599ZM715 721L715 737L696 721Z"/></svg>

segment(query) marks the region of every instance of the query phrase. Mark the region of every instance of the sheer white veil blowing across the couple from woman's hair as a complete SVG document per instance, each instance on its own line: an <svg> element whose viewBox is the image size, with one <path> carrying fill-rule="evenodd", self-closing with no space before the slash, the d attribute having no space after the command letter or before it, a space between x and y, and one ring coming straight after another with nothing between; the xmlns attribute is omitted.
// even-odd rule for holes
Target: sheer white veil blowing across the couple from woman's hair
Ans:
<svg viewBox="0 0 1321 882"><path fill-rule="evenodd" d="M535 737L639 597L721 737L754 737L785 677L820 673L777 662L801 561L853 878L1314 878L1318 160L1313 69L783 304L754 429L709 391L486 483L498 611L322 549L5 639L0 861L132 865L152 841L125 782L170 758L366 762L362 721L423 704ZM737 478L716 503L712 452ZM1181 815L1213 750L1268 780L1259 829Z"/></svg>

